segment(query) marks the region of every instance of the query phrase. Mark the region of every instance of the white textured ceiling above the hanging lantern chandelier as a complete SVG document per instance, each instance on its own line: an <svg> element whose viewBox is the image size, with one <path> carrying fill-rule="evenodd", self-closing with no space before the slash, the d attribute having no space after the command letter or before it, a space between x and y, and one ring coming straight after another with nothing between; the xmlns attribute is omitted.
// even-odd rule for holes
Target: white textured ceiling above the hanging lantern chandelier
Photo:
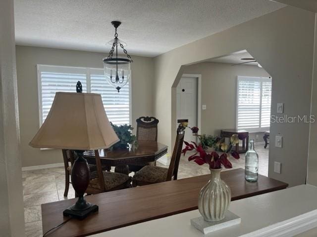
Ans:
<svg viewBox="0 0 317 237"><path fill-rule="evenodd" d="M130 54L161 53L275 11L269 0L14 0L15 39L33 45L108 52L112 20Z"/></svg>

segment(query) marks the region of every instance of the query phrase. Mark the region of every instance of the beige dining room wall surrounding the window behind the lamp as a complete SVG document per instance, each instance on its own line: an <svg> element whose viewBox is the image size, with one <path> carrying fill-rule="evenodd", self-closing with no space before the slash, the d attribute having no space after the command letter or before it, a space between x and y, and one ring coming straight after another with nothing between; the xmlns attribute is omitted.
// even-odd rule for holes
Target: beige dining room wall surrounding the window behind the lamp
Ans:
<svg viewBox="0 0 317 237"><path fill-rule="evenodd" d="M60 150L39 150L28 143L39 129L37 64L103 68L106 53L62 50L41 47L16 46L18 98L22 166L61 163ZM152 58L133 56L132 70L132 121L140 116L153 115Z"/></svg>

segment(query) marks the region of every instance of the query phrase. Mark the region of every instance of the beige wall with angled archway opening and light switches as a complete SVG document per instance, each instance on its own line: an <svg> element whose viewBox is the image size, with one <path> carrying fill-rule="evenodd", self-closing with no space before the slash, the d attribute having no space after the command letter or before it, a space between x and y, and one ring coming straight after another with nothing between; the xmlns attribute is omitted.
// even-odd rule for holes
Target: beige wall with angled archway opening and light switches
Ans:
<svg viewBox="0 0 317 237"><path fill-rule="evenodd" d="M309 115L314 23L314 13L288 6L156 57L154 112L161 118L159 141L170 145L175 138L174 87L184 65L244 49L273 78L271 115L276 115L277 103L284 103L288 116ZM271 141L277 134L283 136L283 148L269 146L269 177L290 186L305 183L309 124L271 123L270 134ZM273 172L274 161L282 163L281 174Z"/></svg>

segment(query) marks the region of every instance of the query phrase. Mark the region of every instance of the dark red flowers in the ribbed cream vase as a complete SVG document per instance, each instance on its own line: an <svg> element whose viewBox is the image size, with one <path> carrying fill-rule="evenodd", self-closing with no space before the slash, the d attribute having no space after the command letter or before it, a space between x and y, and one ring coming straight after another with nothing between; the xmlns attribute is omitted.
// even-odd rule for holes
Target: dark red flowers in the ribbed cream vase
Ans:
<svg viewBox="0 0 317 237"><path fill-rule="evenodd" d="M188 158L188 161L194 160L199 165L209 164L211 169L220 169L221 166L229 169L232 168L232 164L228 158L233 157L239 159L240 156L236 151L232 151L232 148L239 143L238 135L232 135L229 145L224 143L224 139L215 136L198 135L199 128L190 128L193 135L198 136L200 144L195 142L185 142L186 147L182 153L186 154L187 151L196 151L196 153ZM209 147L212 151L206 152L206 148Z"/></svg>

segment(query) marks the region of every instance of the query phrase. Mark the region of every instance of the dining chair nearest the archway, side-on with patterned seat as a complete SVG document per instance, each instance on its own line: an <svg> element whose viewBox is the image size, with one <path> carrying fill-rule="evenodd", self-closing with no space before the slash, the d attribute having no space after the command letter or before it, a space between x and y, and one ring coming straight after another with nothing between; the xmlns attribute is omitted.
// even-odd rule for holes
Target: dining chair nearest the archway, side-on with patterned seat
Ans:
<svg viewBox="0 0 317 237"><path fill-rule="evenodd" d="M132 178L132 186L142 186L148 184L155 184L170 180L177 180L177 172L179 166L179 160L181 157L183 141L184 141L185 127L179 124L177 128L176 141L172 158L168 168L146 165Z"/></svg>

